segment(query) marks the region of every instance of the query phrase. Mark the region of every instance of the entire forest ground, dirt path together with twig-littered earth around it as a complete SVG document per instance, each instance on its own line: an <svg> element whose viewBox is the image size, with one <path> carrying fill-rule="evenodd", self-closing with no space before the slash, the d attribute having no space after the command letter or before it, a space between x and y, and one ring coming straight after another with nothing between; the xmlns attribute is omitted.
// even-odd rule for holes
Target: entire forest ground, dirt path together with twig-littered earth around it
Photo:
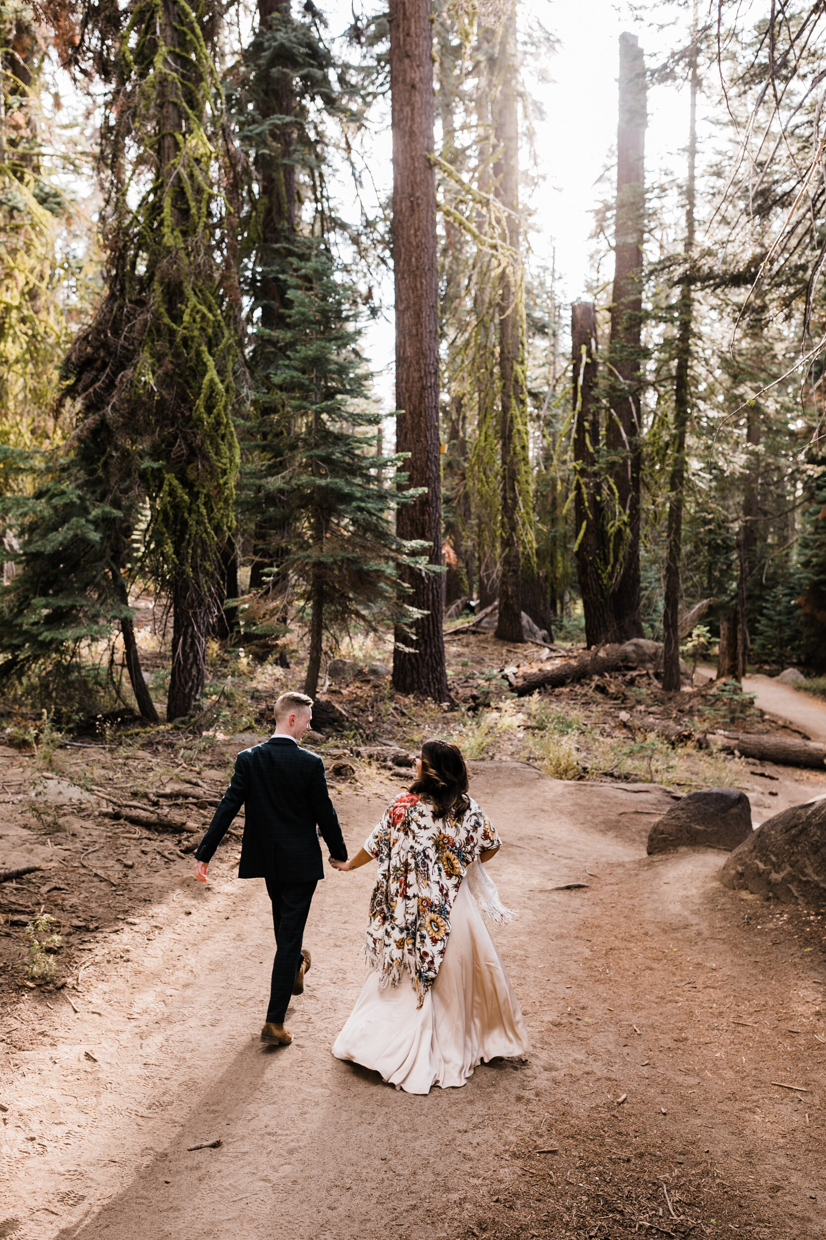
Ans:
<svg viewBox="0 0 826 1240"><path fill-rule="evenodd" d="M649 858L645 841L691 787L743 789L757 823L826 794L826 773L703 748L719 723L778 730L719 687L669 698L634 673L516 701L500 672L524 647L447 647L454 708L394 694L368 652L327 686L348 722L316 744L350 847L426 735L474 759L520 910L495 936L530 1055L426 1099L332 1059L369 868L321 884L295 1042L260 1048L263 884L233 878L237 835L207 888L187 851L296 678L219 666L208 727L0 748L4 863L46 867L0 887L0 1236L253 1240L287 1216L297 1240L822 1235L824 916L723 889L717 852ZM641 732L635 712L685 737ZM146 813L152 830L124 817ZM63 936L46 983L26 976L41 910Z"/></svg>

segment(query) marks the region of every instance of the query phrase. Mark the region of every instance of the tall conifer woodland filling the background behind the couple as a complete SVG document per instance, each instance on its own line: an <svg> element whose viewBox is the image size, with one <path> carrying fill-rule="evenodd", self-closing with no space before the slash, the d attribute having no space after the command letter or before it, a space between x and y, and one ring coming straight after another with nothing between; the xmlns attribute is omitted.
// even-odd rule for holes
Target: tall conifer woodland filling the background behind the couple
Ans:
<svg viewBox="0 0 826 1240"><path fill-rule="evenodd" d="M529 4L0 7L9 709L201 719L228 658L315 694L365 639L450 702L468 605L510 644L661 641L666 691L681 646L826 672L824 6L635 17L571 305L534 246L565 48Z"/></svg>

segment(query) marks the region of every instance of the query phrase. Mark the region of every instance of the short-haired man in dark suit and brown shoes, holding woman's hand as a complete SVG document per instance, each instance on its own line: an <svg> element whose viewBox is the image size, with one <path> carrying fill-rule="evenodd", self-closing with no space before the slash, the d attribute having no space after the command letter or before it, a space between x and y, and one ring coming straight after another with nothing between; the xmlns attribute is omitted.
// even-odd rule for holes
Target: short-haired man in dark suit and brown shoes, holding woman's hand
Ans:
<svg viewBox="0 0 826 1240"><path fill-rule="evenodd" d="M298 742L312 719L312 698L282 693L275 703L275 733L235 759L233 781L196 849L196 878L207 882L207 866L229 825L246 806L239 878L264 878L272 900L275 961L270 1006L261 1042L287 1045L284 1028L290 994L301 994L310 952L303 929L316 883L324 877L321 831L331 857L347 861L338 815L327 791L324 764Z"/></svg>

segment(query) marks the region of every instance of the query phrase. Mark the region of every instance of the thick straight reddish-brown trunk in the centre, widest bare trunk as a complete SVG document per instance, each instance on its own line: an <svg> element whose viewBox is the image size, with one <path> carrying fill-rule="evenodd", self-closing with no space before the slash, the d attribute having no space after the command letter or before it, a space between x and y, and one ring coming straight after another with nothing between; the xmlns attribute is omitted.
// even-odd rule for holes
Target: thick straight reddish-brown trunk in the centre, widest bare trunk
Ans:
<svg viewBox="0 0 826 1240"><path fill-rule="evenodd" d="M401 538L430 544L442 563L438 438L438 289L430 0L390 2L393 103L393 267L396 294L396 450L409 453L407 486L426 487L396 516ZM425 613L410 634L396 629L393 684L402 693L448 698L438 574L405 570L406 599ZM402 649L402 647L414 649Z"/></svg>

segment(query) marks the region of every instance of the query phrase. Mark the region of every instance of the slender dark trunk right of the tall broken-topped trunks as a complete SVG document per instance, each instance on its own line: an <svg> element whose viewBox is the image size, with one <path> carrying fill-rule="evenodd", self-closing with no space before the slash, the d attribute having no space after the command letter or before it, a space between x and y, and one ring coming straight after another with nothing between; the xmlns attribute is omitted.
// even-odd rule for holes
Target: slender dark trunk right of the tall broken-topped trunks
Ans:
<svg viewBox="0 0 826 1240"><path fill-rule="evenodd" d="M689 175L686 179L686 264L691 262L695 237L695 164L697 156L697 9L695 5L691 45L691 103L689 119ZM665 539L665 600L663 606L663 688L680 692L680 558L682 554L682 497L686 472L686 430L691 413L691 281L680 289L677 365L674 382L674 460L671 464L669 525Z"/></svg>

